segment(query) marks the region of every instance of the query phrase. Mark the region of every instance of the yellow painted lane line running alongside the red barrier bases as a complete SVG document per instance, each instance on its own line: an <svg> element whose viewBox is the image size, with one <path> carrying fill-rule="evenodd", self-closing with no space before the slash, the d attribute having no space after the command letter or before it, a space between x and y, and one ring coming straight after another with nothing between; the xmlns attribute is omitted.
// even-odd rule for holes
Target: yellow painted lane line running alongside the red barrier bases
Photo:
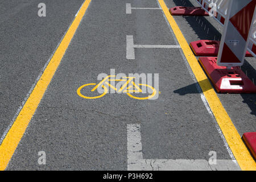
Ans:
<svg viewBox="0 0 256 182"><path fill-rule="evenodd" d="M256 170L256 163L254 159L243 143L240 135L236 130L236 127L233 125L231 119L229 118L228 113L226 113L226 110L222 106L220 99L212 88L212 85L210 84L203 69L200 67L200 64L191 51L187 40L184 38L179 26L177 26L175 19L170 14L166 4L164 3L164 0L158 0L158 2L162 7L164 14L166 15L168 22L170 23L172 30L174 31L177 41L179 42L180 47L183 50L183 53L187 58L187 61L197 81L199 82L201 89L204 92L205 98L207 98L210 109L212 109L214 117L216 118L216 121L220 126L220 129L224 134L224 137L226 138L226 141L228 142L229 147L232 150L238 164L242 170Z"/></svg>

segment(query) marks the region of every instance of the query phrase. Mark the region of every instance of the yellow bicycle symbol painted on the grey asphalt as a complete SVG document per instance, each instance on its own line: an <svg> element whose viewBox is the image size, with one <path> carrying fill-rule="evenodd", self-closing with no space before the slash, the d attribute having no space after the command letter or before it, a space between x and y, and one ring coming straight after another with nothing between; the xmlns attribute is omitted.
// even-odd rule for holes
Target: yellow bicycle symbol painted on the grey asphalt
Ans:
<svg viewBox="0 0 256 182"><path fill-rule="evenodd" d="M138 100L147 100L147 99L150 99L155 96L155 94L156 94L155 88L153 88L152 86L147 85L147 84L135 84L135 82L133 81L134 79L135 79L135 77L122 77L122 79L115 79L115 75L109 75L109 76L106 76L103 80L101 80L101 82L97 85L96 85L96 83L90 83L90 84L85 84L85 85L80 86L77 89L77 94L82 98L96 99L96 98L101 98L101 97L105 96L105 94L109 92L108 88L112 88L118 93L126 93L129 97L135 98ZM122 84L121 88L116 88L114 85L110 84L109 81L126 81L126 82L124 82ZM96 89L98 89L99 86L101 86L104 89L104 92L100 96L93 96L93 97L85 96L84 94L81 93L82 89L85 89L85 87L89 87L92 85L96 85L96 86L94 86L93 89L90 90L90 92L94 92ZM108 85L109 87L107 87L105 85ZM146 87L150 88L149 90L151 90L152 93L150 95L148 95L147 97L133 96L132 95L133 93L136 93L136 94L143 93L140 86L146 86Z"/></svg>

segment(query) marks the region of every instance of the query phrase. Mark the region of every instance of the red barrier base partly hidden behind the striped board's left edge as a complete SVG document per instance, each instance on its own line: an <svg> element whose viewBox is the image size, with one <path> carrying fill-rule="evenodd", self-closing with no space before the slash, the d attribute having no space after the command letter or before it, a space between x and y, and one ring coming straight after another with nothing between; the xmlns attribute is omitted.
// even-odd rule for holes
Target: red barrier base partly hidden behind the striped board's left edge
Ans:
<svg viewBox="0 0 256 182"><path fill-rule="evenodd" d="M216 40L197 40L191 42L189 46L192 48L196 56L218 56L220 41ZM246 57L253 57L249 51L246 51Z"/></svg>

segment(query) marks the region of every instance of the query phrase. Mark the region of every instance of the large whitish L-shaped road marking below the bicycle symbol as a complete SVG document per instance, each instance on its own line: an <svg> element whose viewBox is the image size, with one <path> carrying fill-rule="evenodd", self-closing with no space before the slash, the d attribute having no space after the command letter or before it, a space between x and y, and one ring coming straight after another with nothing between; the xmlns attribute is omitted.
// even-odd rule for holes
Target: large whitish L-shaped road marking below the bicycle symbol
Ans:
<svg viewBox="0 0 256 182"><path fill-rule="evenodd" d="M141 125L127 125L127 170L161 170L161 171L240 171L233 160L207 161L205 159L143 159L141 143Z"/></svg>

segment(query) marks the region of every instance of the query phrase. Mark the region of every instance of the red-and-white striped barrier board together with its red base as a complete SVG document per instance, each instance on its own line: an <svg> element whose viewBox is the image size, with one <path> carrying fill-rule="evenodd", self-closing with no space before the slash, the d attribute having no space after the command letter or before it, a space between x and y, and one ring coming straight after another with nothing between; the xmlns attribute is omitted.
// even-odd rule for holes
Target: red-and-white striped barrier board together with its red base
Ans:
<svg viewBox="0 0 256 182"><path fill-rule="evenodd" d="M255 6L256 0L229 0L218 57L199 59L217 92L256 93L256 86L239 67L253 31Z"/></svg>

